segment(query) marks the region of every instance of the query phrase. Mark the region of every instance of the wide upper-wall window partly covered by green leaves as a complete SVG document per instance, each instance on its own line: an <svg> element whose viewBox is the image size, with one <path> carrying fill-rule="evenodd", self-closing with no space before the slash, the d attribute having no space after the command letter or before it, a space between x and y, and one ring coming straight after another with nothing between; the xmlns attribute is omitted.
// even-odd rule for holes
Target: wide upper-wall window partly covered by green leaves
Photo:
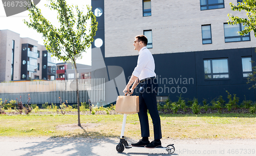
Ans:
<svg viewBox="0 0 256 156"><path fill-rule="evenodd" d="M224 23L224 35L225 42L240 42L240 41L250 41L250 33L245 36L240 36L238 32L244 30L246 26L240 24L230 25L228 23Z"/></svg>

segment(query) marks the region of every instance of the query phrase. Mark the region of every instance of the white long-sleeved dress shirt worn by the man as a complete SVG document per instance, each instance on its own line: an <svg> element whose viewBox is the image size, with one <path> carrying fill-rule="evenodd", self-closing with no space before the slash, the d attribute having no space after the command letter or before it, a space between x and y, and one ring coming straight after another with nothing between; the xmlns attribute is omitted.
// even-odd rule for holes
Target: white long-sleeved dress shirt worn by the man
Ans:
<svg viewBox="0 0 256 156"><path fill-rule="evenodd" d="M142 47L139 51L138 62L133 71L133 75L139 77L139 80L156 76L155 61L146 46Z"/></svg>

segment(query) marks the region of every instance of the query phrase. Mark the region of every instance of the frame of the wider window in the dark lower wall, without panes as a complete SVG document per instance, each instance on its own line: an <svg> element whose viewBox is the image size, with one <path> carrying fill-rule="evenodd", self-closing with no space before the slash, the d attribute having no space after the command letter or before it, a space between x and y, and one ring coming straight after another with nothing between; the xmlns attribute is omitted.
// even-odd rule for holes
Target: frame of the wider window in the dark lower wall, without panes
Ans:
<svg viewBox="0 0 256 156"><path fill-rule="evenodd" d="M213 81L213 80L230 80L230 70L229 70L229 63L228 63L228 58L216 58L216 59L203 59L203 67L204 67L204 61L210 61L210 69L211 69L211 73L205 73L204 70L204 80L205 81ZM221 73L213 73L213 68L212 68L212 60L227 60L227 68L228 68L228 72L221 72ZM227 78L214 78L214 75L225 75L228 74ZM205 75L211 75L210 79L205 79Z"/></svg>

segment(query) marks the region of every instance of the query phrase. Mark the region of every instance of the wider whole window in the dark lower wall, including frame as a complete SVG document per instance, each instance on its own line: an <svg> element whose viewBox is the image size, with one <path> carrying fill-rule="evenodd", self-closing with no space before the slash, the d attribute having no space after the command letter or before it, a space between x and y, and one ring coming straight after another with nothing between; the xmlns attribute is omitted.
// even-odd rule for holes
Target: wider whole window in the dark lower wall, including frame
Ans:
<svg viewBox="0 0 256 156"><path fill-rule="evenodd" d="M229 78L227 59L204 60L204 79Z"/></svg>

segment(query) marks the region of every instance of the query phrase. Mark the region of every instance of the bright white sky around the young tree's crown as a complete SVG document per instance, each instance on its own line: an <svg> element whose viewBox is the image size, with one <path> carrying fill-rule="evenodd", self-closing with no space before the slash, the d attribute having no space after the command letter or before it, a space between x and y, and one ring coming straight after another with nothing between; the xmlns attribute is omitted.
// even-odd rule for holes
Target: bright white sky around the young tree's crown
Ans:
<svg viewBox="0 0 256 156"><path fill-rule="evenodd" d="M87 7L86 5L91 5L91 0L66 0L68 5L78 5L79 9L84 8L84 12L86 13ZM42 15L44 15L53 25L58 25L57 13L51 11L44 5L47 3L46 0L41 0L37 7L41 9ZM29 20L28 16L29 12L24 11L22 13L6 17L5 9L3 3L0 2L0 30L8 29L15 33L20 34L20 37L28 37L38 41L38 44L44 45L44 41L39 33L37 33L34 29L30 29L24 24L23 19ZM83 53L83 58L81 60L77 60L77 63L92 65L92 50L89 48L87 53ZM60 63L62 61L58 61L56 59L56 63Z"/></svg>

